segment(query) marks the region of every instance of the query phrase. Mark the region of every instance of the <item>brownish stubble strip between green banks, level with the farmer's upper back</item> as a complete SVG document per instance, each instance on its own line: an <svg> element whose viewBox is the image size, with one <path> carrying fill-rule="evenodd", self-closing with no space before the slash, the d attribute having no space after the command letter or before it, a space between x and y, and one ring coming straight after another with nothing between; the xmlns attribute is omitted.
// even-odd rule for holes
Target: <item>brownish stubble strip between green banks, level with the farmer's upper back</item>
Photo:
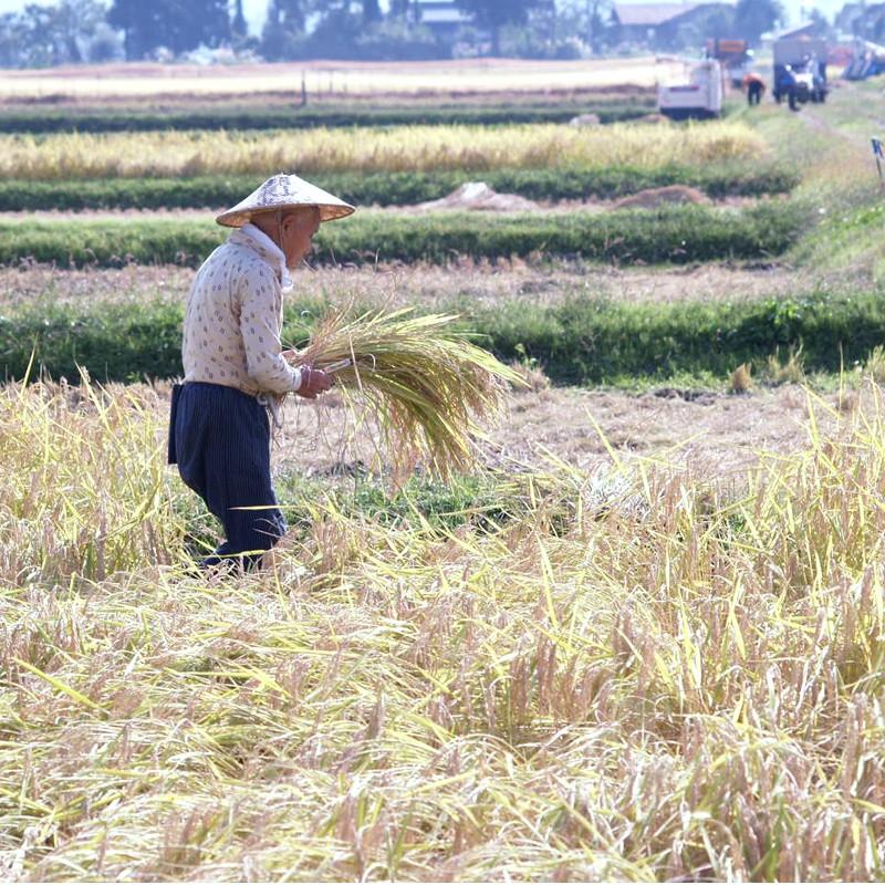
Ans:
<svg viewBox="0 0 885 885"><path fill-rule="evenodd" d="M50 266L0 268L0 309L34 301L93 306L138 304L159 298L184 301L194 271L189 268L137 267L69 270ZM790 298L820 288L852 291L871 284L862 272L808 274L788 267L760 269L727 264L686 268L614 268L553 262L538 267L519 261L473 263L447 268L433 264L379 264L303 269L294 294L324 295L332 303L358 301L375 306L456 309L459 304L491 306L504 301L556 304L573 296L604 296L629 303L740 301Z"/></svg>

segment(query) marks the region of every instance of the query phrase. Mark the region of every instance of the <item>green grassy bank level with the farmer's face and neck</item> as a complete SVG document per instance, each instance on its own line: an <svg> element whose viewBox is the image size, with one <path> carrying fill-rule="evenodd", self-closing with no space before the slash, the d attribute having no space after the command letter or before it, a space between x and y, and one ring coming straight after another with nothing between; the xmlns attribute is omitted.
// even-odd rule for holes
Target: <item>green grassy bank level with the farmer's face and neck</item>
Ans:
<svg viewBox="0 0 885 885"><path fill-rule="evenodd" d="M782 253L808 223L802 207L789 201L747 209L679 206L496 217L369 211L324 225L313 256L323 263L445 263L455 256L573 256L627 263L758 260ZM196 267L226 236L209 220L0 222L0 263L32 259L62 267L127 261Z"/></svg>

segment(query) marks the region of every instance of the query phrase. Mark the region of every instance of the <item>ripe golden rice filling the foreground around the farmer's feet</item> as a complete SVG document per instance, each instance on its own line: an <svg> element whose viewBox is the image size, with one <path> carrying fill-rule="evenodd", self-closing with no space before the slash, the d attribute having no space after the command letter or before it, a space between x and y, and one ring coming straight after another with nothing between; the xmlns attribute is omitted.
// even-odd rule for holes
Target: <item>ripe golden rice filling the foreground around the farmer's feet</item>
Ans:
<svg viewBox="0 0 885 885"><path fill-rule="evenodd" d="M497 530L315 499L214 585L138 396L3 389L0 875L881 879L871 399L739 486L527 477Z"/></svg>

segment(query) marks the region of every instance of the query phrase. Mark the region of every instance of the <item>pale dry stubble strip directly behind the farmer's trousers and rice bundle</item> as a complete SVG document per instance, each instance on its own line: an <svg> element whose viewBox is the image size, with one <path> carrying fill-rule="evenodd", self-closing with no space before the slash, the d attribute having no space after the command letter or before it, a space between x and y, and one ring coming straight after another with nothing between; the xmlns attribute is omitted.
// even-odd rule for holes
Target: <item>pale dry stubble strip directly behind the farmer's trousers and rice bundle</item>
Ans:
<svg viewBox="0 0 885 885"><path fill-rule="evenodd" d="M168 385L156 388L162 420ZM812 399L814 395L811 395ZM660 389L634 396L606 391L554 388L514 395L510 415L486 447L489 466L544 469L551 456L592 469L618 458L653 459L708 477L742 476L760 451L788 454L808 441L810 395L796 385L736 396ZM847 414L861 396L820 397L822 428ZM377 465L377 433L366 416L355 423L334 392L316 403L290 398L273 448L278 471L341 477Z"/></svg>

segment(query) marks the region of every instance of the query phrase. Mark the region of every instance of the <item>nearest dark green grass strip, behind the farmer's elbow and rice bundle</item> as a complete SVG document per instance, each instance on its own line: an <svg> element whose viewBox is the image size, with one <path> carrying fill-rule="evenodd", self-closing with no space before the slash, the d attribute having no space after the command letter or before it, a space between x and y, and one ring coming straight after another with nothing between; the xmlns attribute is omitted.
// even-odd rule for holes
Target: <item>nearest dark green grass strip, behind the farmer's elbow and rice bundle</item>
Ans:
<svg viewBox="0 0 885 885"><path fill-rule="evenodd" d="M287 306L285 340L303 343L319 300ZM308 317L305 320L305 317ZM181 372L183 306L155 302L40 304L0 315L0 371L24 376L32 352L53 377L86 366L100 381L174 377ZM502 303L464 315L464 329L503 360L528 355L560 384L622 384L627 378L714 374L762 366L778 348L802 345L809 372L839 372L885 342L885 300L819 293L736 303L618 304L575 298L562 304Z"/></svg>

